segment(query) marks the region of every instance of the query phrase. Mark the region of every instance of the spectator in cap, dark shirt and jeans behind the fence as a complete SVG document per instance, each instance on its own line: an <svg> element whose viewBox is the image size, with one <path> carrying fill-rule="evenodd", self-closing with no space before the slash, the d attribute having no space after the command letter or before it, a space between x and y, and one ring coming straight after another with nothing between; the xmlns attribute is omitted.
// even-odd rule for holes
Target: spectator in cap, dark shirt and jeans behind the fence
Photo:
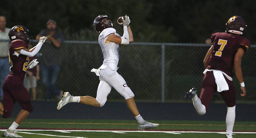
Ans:
<svg viewBox="0 0 256 138"><path fill-rule="evenodd" d="M46 87L45 100L50 100L52 96L59 96L60 90L56 86L60 66L62 62L61 43L64 41L63 34L57 29L56 22L49 19L46 28L42 30L37 36L39 40L41 36L46 36L48 43L44 43L41 49L42 56L40 58L40 70L42 73L42 81Z"/></svg>

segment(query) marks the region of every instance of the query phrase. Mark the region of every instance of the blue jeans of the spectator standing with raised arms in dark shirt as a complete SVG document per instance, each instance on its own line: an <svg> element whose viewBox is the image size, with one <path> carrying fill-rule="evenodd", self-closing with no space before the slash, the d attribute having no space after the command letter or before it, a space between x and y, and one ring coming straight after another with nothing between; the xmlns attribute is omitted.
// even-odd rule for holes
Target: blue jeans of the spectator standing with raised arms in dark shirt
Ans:
<svg viewBox="0 0 256 138"><path fill-rule="evenodd" d="M45 99L50 100L52 96L58 96L60 90L55 83L60 72L60 65L47 66L40 64L40 71L42 73L42 81L46 87Z"/></svg>

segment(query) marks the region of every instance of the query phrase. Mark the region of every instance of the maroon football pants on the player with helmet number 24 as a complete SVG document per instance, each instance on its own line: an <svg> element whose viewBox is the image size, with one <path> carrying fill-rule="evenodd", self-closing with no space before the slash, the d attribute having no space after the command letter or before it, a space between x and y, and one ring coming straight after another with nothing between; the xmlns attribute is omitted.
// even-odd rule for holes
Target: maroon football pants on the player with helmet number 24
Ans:
<svg viewBox="0 0 256 138"><path fill-rule="evenodd" d="M11 116L12 109L16 101L21 105L23 110L28 112L33 111L33 106L30 102L30 95L28 90L23 86L22 80L19 76L9 74L4 81L3 92L3 118L9 118Z"/></svg>

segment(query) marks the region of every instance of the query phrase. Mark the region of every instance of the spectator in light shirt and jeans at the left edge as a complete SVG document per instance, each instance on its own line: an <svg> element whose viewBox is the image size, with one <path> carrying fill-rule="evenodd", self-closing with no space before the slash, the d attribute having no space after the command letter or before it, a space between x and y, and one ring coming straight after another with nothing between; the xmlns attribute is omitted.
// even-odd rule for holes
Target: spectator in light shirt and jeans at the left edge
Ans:
<svg viewBox="0 0 256 138"><path fill-rule="evenodd" d="M3 99L3 83L6 76L10 72L9 64L9 46L10 41L8 33L10 28L6 28L6 19L4 16L0 16L0 40L6 40L6 42L0 42L0 100Z"/></svg>

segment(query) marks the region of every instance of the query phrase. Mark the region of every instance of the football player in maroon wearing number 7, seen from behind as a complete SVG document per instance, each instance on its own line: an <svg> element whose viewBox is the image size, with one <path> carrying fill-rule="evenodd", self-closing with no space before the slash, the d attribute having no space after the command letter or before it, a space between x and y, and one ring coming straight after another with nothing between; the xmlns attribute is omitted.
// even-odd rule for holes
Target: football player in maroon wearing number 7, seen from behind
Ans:
<svg viewBox="0 0 256 138"><path fill-rule="evenodd" d="M212 34L212 46L204 58L204 79L200 99L193 87L186 93L187 100L192 99L196 112L204 115L215 91L220 92L227 104L226 117L227 138L232 138L236 116L236 92L232 83L232 69L241 85L242 94L246 95L245 84L241 69L241 60L244 52L249 49L251 42L243 36L246 25L239 16L231 17L226 23L226 32Z"/></svg>

